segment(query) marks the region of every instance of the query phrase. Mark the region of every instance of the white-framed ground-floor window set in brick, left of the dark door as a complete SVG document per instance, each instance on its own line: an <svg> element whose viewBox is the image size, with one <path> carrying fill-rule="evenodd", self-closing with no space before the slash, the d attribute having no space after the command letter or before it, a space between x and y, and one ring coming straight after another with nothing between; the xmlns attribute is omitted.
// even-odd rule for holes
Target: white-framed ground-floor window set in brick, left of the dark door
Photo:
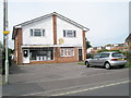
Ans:
<svg viewBox="0 0 131 98"><path fill-rule="evenodd" d="M61 57L73 57L74 48L61 48L60 56Z"/></svg>

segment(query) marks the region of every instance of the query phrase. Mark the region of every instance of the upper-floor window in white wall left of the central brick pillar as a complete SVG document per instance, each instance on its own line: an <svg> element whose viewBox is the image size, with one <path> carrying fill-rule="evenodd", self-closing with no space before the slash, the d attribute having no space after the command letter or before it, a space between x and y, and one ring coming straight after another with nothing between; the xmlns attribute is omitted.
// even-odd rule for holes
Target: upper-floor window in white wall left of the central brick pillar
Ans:
<svg viewBox="0 0 131 98"><path fill-rule="evenodd" d="M38 29L38 28L31 29L31 36L34 37L45 36L45 29Z"/></svg>

